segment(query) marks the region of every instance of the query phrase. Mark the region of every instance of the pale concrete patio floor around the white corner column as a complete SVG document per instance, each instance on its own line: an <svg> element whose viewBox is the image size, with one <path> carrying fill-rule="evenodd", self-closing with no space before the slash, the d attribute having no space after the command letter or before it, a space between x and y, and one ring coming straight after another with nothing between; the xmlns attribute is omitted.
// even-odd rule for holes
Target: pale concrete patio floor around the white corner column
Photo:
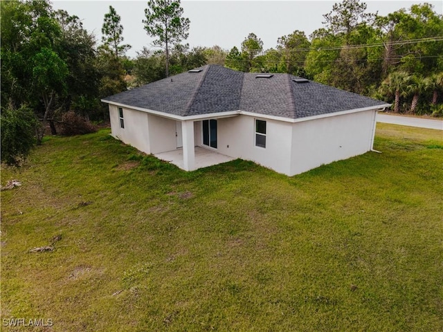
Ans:
<svg viewBox="0 0 443 332"><path fill-rule="evenodd" d="M199 169L203 167L209 167L221 163L227 163L230 160L234 160L229 156L224 154L219 154L217 151L210 149L205 149L204 147L195 147L195 164L194 169ZM186 169L183 162L183 149L175 149L172 151L161 152L159 154L154 154L157 158L176 165L181 169Z"/></svg>

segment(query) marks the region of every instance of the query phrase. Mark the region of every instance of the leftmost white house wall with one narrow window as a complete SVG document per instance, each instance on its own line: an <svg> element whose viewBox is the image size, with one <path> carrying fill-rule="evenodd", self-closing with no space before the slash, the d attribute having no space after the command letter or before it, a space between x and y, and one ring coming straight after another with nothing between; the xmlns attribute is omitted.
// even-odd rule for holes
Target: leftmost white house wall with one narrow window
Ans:
<svg viewBox="0 0 443 332"><path fill-rule="evenodd" d="M123 107L125 128L120 128L118 107L109 105L109 118L111 120L111 135L114 138L147 154L151 153L150 137L147 132L147 113Z"/></svg>

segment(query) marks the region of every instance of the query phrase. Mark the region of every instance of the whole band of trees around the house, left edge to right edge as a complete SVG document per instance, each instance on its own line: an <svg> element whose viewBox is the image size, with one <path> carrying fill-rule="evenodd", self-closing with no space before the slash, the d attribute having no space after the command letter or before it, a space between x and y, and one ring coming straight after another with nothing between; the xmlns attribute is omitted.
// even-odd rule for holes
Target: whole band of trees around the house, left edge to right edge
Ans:
<svg viewBox="0 0 443 332"><path fill-rule="evenodd" d="M47 0L0 6L1 146L9 164L42 142L46 124L55 134L56 124L75 116L104 120L100 98L204 64L290 73L392 102L395 112L443 116L443 18L428 3L383 17L366 12L359 0L345 0L323 15L323 27L309 38L295 30L264 50L250 33L240 49L224 50L183 44L190 20L180 1L150 0L143 24L154 42L135 59L125 55L131 46L112 6L100 44L79 17L53 10Z"/></svg>

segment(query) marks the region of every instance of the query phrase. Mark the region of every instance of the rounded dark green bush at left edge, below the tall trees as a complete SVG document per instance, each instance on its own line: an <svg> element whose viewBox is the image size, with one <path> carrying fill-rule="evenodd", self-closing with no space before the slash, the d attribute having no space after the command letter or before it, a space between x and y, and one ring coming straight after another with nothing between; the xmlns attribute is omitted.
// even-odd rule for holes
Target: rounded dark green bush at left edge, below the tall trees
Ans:
<svg viewBox="0 0 443 332"><path fill-rule="evenodd" d="M12 105L1 110L1 161L19 166L35 144L37 118L32 109Z"/></svg>

